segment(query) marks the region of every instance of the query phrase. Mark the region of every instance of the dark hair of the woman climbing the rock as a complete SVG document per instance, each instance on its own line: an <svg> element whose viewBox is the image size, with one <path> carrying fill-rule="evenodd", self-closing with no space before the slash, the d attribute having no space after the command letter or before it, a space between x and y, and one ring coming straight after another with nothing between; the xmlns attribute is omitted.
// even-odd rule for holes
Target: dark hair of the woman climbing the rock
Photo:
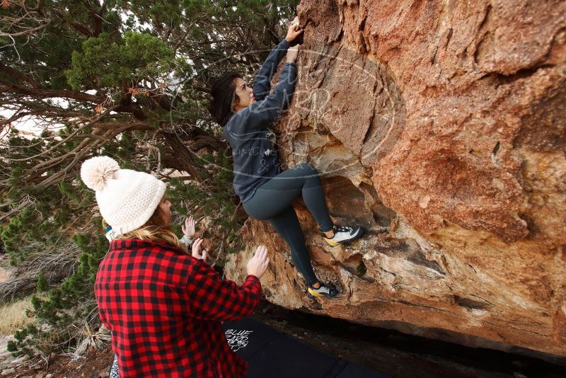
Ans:
<svg viewBox="0 0 566 378"><path fill-rule="evenodd" d="M212 88L210 88L212 101L208 111L212 118L221 126L226 125L233 113L232 105L234 101L238 101L234 79L241 77L242 75L237 71L229 72L216 79L212 84Z"/></svg>

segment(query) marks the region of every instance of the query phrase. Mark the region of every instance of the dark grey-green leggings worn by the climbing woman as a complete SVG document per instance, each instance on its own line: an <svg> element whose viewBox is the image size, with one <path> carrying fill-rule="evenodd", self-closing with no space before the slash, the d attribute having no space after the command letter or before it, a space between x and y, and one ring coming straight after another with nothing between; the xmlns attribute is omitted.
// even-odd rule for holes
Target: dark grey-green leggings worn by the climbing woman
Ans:
<svg viewBox="0 0 566 378"><path fill-rule="evenodd" d="M334 224L328 214L318 172L311 164L304 163L290 168L260 185L253 197L243 204L243 208L252 218L270 221L275 231L291 247L293 263L307 285L313 285L318 280L306 249L301 224L292 205L301 194L320 229L330 231Z"/></svg>

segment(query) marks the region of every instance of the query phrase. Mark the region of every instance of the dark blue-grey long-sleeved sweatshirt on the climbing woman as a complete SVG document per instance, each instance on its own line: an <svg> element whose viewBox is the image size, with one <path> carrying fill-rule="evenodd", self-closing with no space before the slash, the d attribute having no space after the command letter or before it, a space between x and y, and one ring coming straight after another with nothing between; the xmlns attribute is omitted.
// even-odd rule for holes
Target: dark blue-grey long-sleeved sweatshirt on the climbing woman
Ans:
<svg viewBox="0 0 566 378"><path fill-rule="evenodd" d="M255 103L232 115L222 132L232 147L234 190L242 202L255 194L258 186L281 172L271 126L289 107L295 89L296 65L284 65L279 82L270 93L277 64L287 53L289 42L282 40L267 56L253 83Z"/></svg>

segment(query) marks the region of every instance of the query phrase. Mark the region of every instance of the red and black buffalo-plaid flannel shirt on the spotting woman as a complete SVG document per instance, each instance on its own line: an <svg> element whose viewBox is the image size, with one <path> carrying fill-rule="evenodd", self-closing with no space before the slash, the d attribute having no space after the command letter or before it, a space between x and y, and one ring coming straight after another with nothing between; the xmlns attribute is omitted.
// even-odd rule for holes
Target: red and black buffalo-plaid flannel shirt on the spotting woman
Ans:
<svg viewBox="0 0 566 378"><path fill-rule="evenodd" d="M95 294L120 377L246 376L221 321L252 314L261 297L257 277L238 287L185 251L124 239L110 243Z"/></svg>

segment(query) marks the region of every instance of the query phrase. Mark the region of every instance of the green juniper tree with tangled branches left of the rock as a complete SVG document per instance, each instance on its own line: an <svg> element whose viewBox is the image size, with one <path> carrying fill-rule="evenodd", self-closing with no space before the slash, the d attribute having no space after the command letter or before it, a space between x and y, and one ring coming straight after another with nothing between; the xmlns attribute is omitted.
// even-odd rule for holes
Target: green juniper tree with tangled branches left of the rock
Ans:
<svg viewBox="0 0 566 378"><path fill-rule="evenodd" d="M177 221L207 217L217 263L240 248L244 215L208 88L222 71L257 70L297 2L1 1L1 245L40 292L37 326L11 350L49 355L98 324L92 286L108 242L79 179L90 156L170 181ZM23 121L42 131L23 133Z"/></svg>

